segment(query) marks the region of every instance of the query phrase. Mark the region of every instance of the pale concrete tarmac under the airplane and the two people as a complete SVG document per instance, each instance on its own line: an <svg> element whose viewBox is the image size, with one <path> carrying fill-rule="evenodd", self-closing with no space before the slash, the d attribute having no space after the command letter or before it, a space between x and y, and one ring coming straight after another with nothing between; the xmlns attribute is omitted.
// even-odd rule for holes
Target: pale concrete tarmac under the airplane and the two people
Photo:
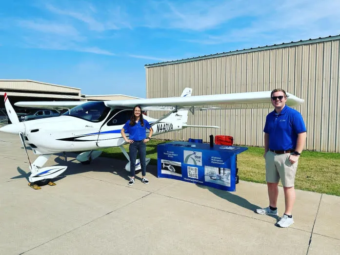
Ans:
<svg viewBox="0 0 340 255"><path fill-rule="evenodd" d="M68 169L56 186L33 190L19 137L0 133L0 254L340 254L338 196L298 190L295 224L279 228L254 212L268 206L266 185L220 191L157 178L148 166L150 184L139 173L129 186L127 161L75 157L52 156L45 166Z"/></svg>

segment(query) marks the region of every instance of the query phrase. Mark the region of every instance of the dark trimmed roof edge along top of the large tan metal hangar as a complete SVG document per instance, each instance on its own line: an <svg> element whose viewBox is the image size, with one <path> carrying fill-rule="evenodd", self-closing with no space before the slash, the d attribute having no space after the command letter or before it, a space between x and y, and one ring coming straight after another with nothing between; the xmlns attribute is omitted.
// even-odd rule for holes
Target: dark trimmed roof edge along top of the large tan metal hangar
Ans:
<svg viewBox="0 0 340 255"><path fill-rule="evenodd" d="M202 59L210 59L215 57L222 57L222 56L228 56L228 55L235 55L240 53L246 53L246 52L254 52L259 50L266 50L266 49L275 49L275 48L283 48L283 47L289 47L289 46L295 46L295 45L303 45L303 44L309 44L309 43L320 43L320 42L327 42L327 41L334 41L340 39L340 35L337 36L328 36L328 37L319 37L317 39L309 39L309 40L300 40L298 42L290 42L290 43L281 43L281 44L274 44L274 45L266 45L266 46L258 46L256 48L250 48L250 49L242 49L242 50L234 50L229 52L222 52L222 53L215 53L211 55L204 55L199 57L193 57L188 59L182 59L182 60L174 60L174 61L167 61L167 62L160 62L155 64L145 64L144 67L155 67L155 66L162 66L162 65L168 65L168 64L178 64L178 63L185 63L190 61L196 61L196 60L202 60Z"/></svg>

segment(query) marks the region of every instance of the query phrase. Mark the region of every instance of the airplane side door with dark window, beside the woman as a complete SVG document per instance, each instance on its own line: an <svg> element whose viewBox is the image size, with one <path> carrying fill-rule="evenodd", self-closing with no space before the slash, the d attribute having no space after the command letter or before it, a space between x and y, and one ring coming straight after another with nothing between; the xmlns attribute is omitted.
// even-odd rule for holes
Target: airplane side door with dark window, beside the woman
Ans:
<svg viewBox="0 0 340 255"><path fill-rule="evenodd" d="M115 109L112 111L108 121L100 127L97 146L103 148L120 146L123 144L125 141L120 134L120 130L130 117L131 110Z"/></svg>

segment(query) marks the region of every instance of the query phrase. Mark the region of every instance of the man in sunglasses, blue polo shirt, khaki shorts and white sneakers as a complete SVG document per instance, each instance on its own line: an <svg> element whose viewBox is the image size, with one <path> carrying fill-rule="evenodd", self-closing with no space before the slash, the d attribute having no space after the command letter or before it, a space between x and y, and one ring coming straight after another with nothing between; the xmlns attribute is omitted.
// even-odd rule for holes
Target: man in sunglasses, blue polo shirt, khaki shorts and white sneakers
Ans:
<svg viewBox="0 0 340 255"><path fill-rule="evenodd" d="M283 89L274 89L271 101L275 110L267 115L264 132L264 158L269 207L257 209L260 214L278 215L278 184L284 191L285 211L276 224L287 228L294 223L292 217L295 202L294 181L298 160L304 147L307 133L300 112L286 106L287 95Z"/></svg>

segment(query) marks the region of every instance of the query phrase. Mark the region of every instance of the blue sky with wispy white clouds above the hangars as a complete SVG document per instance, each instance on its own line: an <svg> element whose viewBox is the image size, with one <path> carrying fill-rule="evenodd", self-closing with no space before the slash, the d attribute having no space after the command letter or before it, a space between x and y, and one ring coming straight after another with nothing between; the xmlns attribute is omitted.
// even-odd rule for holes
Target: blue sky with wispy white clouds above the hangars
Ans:
<svg viewBox="0 0 340 255"><path fill-rule="evenodd" d="M339 0L0 0L0 79L145 97L145 64L335 36L339 17Z"/></svg>

